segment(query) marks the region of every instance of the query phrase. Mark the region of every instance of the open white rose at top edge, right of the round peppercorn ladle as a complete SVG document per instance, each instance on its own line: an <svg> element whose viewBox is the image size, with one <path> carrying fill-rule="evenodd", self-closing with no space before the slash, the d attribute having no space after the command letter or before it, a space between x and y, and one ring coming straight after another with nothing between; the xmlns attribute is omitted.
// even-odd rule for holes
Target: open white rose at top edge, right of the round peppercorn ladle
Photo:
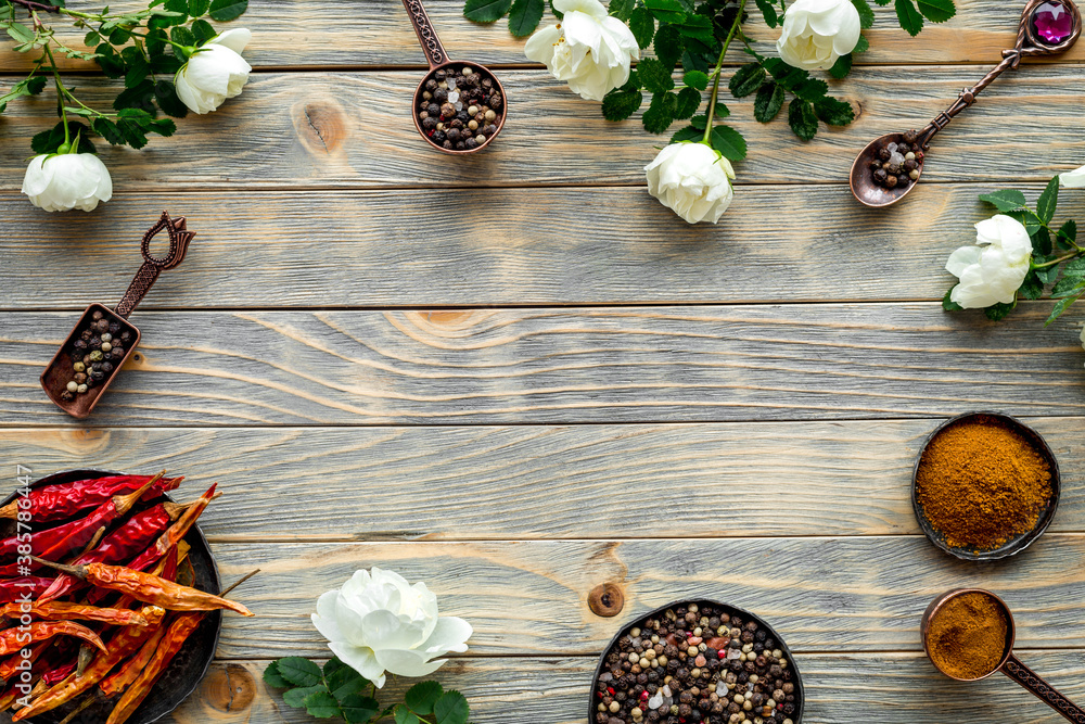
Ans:
<svg viewBox="0 0 1085 724"><path fill-rule="evenodd" d="M553 0L564 16L533 35L524 47L529 60L545 63L558 80L589 101L601 101L629 79L640 48L625 23L607 14L599 0Z"/></svg>

